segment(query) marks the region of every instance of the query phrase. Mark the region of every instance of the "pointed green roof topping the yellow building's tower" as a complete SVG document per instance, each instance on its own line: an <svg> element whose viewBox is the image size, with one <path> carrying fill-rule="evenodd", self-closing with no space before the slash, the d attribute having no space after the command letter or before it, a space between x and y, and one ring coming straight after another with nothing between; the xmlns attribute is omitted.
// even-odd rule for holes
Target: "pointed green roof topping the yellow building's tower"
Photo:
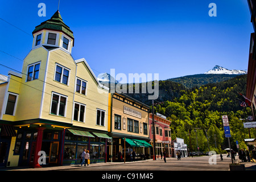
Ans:
<svg viewBox="0 0 256 182"><path fill-rule="evenodd" d="M39 26L36 26L32 34L35 34L36 32L43 29L61 31L74 39L73 32L70 30L67 24L63 22L59 10L57 10L56 13L52 15L51 19L48 19L45 22L39 24Z"/></svg>

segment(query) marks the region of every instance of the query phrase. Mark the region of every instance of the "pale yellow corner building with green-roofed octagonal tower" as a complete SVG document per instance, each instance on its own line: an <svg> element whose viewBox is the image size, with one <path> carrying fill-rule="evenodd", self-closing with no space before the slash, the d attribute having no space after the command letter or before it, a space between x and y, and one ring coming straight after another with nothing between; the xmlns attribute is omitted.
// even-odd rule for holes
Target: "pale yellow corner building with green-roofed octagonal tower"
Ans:
<svg viewBox="0 0 256 182"><path fill-rule="evenodd" d="M74 60L73 32L59 11L35 27L22 73L0 83L0 166L106 162L108 92L85 59Z"/></svg>

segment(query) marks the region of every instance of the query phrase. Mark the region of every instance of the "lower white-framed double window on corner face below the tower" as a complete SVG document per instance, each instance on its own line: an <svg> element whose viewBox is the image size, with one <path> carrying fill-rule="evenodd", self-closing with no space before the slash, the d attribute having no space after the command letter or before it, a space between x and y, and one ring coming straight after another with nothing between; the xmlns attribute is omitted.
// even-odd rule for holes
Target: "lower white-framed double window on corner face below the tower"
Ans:
<svg viewBox="0 0 256 182"><path fill-rule="evenodd" d="M52 93L51 114L60 115L65 117L67 107L67 96Z"/></svg>

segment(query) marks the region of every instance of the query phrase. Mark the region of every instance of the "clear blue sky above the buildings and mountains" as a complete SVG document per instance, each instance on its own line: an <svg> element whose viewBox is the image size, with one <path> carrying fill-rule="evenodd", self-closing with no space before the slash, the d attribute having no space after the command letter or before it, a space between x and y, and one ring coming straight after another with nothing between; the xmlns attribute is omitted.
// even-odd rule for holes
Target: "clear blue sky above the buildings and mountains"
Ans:
<svg viewBox="0 0 256 182"><path fill-rule="evenodd" d="M212 2L216 17L208 15ZM39 3L46 4L46 17L38 16ZM24 31L0 19L1 64L22 71L32 31L57 6L58 0L1 1L0 18ZM60 0L59 11L75 36L72 56L84 57L96 76L112 68L127 76L159 73L159 80L204 73L214 65L247 69L253 26L245 0ZM9 70L0 66L3 75Z"/></svg>

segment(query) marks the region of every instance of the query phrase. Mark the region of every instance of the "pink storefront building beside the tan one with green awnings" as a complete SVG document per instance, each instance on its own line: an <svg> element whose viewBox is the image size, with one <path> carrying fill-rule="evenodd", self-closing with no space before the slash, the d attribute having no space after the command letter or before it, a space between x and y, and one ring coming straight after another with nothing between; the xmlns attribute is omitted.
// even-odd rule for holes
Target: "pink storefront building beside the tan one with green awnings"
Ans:
<svg viewBox="0 0 256 182"><path fill-rule="evenodd" d="M161 114L154 114L155 122L155 152L156 159L161 158L161 154L166 151L166 157L171 158L171 121ZM152 124L152 113L149 117L150 124L150 144L154 146L154 126ZM153 147L150 151L151 159L154 158Z"/></svg>

